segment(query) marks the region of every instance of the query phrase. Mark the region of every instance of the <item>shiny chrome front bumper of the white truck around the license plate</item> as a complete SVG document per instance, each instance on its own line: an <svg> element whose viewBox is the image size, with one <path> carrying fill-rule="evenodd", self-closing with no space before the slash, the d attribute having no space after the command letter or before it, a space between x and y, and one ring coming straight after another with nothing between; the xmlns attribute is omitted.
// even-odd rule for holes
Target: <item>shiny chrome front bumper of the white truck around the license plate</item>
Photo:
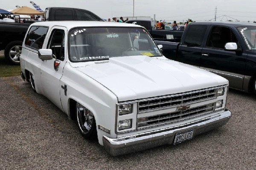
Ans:
<svg viewBox="0 0 256 170"><path fill-rule="evenodd" d="M194 129L193 136L199 135L223 126L229 121L231 115L232 113L226 109L224 112L217 115L176 127L169 127L116 139L103 136L103 145L112 156L118 156L164 144L173 144L176 133Z"/></svg>

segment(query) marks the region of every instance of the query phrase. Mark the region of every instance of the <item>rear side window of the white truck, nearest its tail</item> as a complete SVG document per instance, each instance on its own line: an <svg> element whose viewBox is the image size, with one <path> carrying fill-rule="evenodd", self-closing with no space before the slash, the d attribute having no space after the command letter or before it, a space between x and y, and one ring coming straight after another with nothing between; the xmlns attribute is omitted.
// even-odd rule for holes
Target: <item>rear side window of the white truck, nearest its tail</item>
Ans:
<svg viewBox="0 0 256 170"><path fill-rule="evenodd" d="M48 27L32 26L25 39L25 45L35 49L41 49L47 34Z"/></svg>

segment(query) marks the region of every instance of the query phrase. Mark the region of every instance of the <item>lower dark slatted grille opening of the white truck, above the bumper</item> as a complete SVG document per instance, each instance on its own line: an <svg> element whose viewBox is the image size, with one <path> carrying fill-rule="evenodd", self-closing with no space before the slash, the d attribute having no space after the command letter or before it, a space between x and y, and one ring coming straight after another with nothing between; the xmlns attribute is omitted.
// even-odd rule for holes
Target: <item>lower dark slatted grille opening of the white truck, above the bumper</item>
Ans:
<svg viewBox="0 0 256 170"><path fill-rule="evenodd" d="M173 121L179 121L184 118L189 118L201 115L207 112L214 111L215 103L203 105L200 107L189 108L184 111L169 112L161 115L154 115L149 117L137 118L137 128L148 127L150 125L165 124Z"/></svg>

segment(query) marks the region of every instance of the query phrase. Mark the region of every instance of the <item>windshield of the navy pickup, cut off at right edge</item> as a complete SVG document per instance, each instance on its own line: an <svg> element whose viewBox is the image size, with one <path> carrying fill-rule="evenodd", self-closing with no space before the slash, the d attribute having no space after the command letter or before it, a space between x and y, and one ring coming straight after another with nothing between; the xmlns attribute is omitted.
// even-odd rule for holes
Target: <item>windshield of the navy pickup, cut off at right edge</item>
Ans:
<svg viewBox="0 0 256 170"><path fill-rule="evenodd" d="M238 27L237 29L240 32L247 48L251 51L255 51L256 27L245 26L245 27Z"/></svg>

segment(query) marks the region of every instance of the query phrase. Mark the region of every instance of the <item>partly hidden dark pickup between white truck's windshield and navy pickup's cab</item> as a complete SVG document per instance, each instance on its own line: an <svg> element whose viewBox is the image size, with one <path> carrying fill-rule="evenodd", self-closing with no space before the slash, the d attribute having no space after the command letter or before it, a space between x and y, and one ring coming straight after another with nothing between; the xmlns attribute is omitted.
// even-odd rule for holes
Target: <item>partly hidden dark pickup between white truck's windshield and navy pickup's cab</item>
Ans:
<svg viewBox="0 0 256 170"><path fill-rule="evenodd" d="M148 30L154 40L180 42L183 31L180 30L167 30L167 29L154 29L154 23L151 20L128 20L125 23L133 23L144 26Z"/></svg>

